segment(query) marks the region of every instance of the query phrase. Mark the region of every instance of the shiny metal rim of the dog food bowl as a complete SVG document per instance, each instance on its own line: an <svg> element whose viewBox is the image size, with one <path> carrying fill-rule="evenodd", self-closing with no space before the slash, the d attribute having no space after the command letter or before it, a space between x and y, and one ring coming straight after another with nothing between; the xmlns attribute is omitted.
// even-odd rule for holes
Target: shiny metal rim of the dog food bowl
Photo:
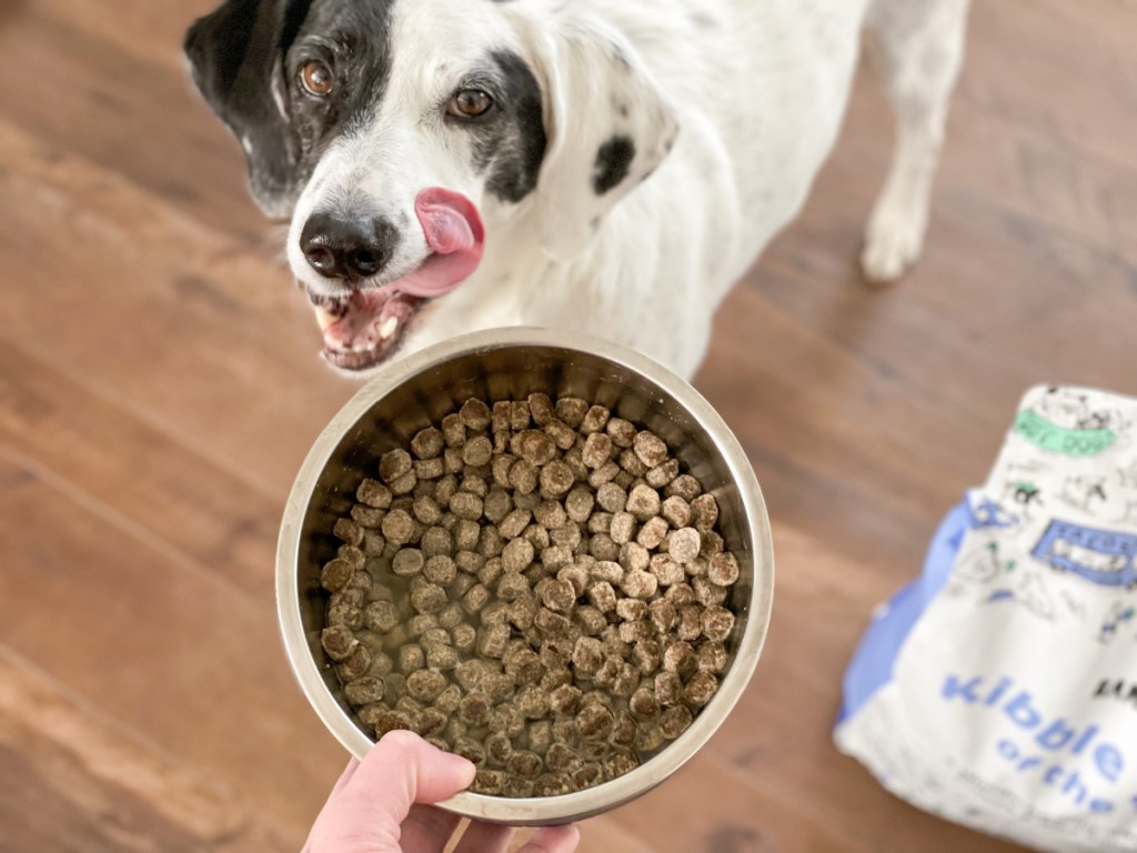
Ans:
<svg viewBox="0 0 1137 853"><path fill-rule="evenodd" d="M313 488L343 436L385 395L455 357L521 347L568 349L598 356L646 378L682 406L712 436L738 487L747 528L753 538L755 563L747 627L733 663L711 703L696 715L687 731L658 754L623 776L570 794L501 797L467 792L455 794L437 804L447 811L478 820L538 826L598 814L647 793L672 776L695 756L730 714L745 691L765 644L774 582L773 544L765 500L738 439L722 416L689 382L658 362L623 345L581 332L536 326L471 332L383 365L321 431L289 491L276 546L276 607L285 655L309 705L340 744L357 759L363 759L374 742L351 721L329 691L310 653L301 619L297 583L299 549Z"/></svg>

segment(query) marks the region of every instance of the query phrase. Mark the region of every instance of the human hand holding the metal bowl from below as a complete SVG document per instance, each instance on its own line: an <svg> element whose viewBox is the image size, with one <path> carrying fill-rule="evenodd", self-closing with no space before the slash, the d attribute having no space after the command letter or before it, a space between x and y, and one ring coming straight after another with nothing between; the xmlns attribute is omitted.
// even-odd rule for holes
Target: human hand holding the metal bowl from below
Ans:
<svg viewBox="0 0 1137 853"><path fill-rule="evenodd" d="M470 786L474 765L410 731L384 735L352 759L316 817L301 853L442 853L460 818L430 803ZM472 821L454 853L504 853L513 827ZM573 826L545 827L517 853L572 853Z"/></svg>

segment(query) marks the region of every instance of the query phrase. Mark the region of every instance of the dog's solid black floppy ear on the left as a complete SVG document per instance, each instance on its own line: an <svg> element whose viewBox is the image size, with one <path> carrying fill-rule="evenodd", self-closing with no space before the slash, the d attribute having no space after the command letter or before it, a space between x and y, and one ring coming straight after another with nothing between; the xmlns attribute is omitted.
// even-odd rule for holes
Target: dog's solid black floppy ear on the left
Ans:
<svg viewBox="0 0 1137 853"><path fill-rule="evenodd" d="M185 34L206 102L241 141L252 197L287 216L298 191L299 143L288 116L282 60L312 0L227 0Z"/></svg>

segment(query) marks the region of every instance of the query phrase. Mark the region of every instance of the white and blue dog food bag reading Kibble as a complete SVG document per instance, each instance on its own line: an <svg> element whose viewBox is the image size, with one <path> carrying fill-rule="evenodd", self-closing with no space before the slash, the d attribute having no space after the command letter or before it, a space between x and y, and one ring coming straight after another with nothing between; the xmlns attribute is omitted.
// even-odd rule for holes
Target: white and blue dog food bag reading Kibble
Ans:
<svg viewBox="0 0 1137 853"><path fill-rule="evenodd" d="M1028 391L844 688L837 745L897 796L1037 850L1137 850L1137 400Z"/></svg>

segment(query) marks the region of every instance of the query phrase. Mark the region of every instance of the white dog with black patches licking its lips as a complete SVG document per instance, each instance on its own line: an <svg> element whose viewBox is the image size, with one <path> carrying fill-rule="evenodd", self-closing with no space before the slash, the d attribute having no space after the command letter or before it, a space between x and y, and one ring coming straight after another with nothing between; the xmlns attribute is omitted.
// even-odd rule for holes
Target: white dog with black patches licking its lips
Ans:
<svg viewBox="0 0 1137 853"><path fill-rule="evenodd" d="M505 325L691 376L802 207L869 34L897 116L870 281L920 252L968 0L227 0L185 38L335 367Z"/></svg>

